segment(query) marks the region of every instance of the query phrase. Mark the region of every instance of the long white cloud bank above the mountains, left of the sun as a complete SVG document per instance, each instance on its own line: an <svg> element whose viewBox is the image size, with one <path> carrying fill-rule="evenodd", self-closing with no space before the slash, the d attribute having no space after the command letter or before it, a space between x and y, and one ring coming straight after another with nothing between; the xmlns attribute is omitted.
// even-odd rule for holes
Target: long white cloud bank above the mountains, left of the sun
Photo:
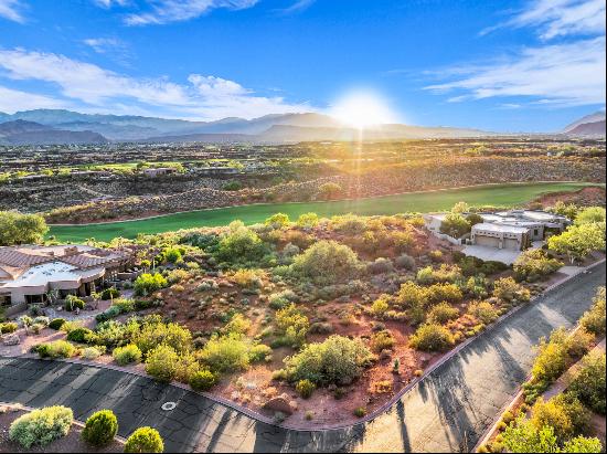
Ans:
<svg viewBox="0 0 607 454"><path fill-rule="evenodd" d="M191 74L185 84L166 77L137 78L64 55L23 49L0 50L0 68L3 70L0 75L10 80L51 84L57 91L57 98L79 102L84 107L123 105L137 112L153 109L200 119L253 118L313 109L306 104L288 103L283 97L257 95L234 81L216 76Z"/></svg>

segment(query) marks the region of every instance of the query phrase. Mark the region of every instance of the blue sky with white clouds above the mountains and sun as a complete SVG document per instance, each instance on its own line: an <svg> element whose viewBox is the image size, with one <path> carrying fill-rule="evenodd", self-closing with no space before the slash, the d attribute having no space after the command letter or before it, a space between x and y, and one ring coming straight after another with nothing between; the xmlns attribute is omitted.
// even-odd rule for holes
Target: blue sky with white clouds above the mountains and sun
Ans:
<svg viewBox="0 0 607 454"><path fill-rule="evenodd" d="M556 130L605 108L605 0L0 0L0 112L333 112Z"/></svg>

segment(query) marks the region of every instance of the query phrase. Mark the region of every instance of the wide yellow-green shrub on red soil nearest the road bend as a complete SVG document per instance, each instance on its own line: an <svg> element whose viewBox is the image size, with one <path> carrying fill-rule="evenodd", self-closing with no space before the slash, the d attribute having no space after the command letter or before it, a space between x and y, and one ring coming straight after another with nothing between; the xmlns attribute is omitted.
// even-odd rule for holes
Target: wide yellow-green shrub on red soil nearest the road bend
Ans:
<svg viewBox="0 0 607 454"><path fill-rule="evenodd" d="M359 340L333 335L285 358L286 377L291 382L349 384L361 376L370 359L371 351Z"/></svg>

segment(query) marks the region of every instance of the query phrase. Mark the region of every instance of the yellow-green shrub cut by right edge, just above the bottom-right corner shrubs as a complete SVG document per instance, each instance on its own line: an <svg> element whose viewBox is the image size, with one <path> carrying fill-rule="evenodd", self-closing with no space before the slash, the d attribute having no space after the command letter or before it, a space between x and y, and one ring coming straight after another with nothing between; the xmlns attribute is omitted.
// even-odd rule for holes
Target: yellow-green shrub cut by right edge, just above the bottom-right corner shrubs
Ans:
<svg viewBox="0 0 607 454"><path fill-rule="evenodd" d="M569 391L595 412L605 414L605 353L592 351L584 357Z"/></svg>

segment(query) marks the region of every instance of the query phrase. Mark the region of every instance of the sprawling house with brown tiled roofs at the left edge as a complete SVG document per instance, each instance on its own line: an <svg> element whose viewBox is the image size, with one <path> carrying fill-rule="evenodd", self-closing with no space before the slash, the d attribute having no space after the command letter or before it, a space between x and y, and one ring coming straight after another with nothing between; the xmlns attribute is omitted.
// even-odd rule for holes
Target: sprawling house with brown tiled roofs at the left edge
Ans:
<svg viewBox="0 0 607 454"><path fill-rule="evenodd" d="M128 252L84 245L0 247L0 304L43 303L51 291L85 297L130 264Z"/></svg>

